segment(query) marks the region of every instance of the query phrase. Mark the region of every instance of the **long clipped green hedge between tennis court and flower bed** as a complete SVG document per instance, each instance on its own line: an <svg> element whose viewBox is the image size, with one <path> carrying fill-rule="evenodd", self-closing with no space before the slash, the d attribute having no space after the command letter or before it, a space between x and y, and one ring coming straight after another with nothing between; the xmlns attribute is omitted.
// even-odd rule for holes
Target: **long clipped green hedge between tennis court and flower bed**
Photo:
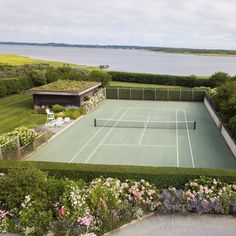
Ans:
<svg viewBox="0 0 236 236"><path fill-rule="evenodd" d="M6 173L9 168L35 166L46 171L49 176L56 178L69 178L71 180L83 179L86 182L104 176L126 179L145 179L158 188L173 186L181 188L189 181L200 176L218 178L226 183L236 182L236 170L223 169L192 169L175 167L141 167L91 164L66 164L54 162L16 162L1 161L0 172Z"/></svg>

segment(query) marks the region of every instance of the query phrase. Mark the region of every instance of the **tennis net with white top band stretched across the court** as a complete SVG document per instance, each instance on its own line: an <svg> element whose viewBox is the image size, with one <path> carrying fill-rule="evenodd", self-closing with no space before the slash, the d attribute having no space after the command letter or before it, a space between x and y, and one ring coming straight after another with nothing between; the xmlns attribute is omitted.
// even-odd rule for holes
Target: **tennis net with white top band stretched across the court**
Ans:
<svg viewBox="0 0 236 236"><path fill-rule="evenodd" d="M138 121L95 118L94 126L114 128L196 129L196 121Z"/></svg>

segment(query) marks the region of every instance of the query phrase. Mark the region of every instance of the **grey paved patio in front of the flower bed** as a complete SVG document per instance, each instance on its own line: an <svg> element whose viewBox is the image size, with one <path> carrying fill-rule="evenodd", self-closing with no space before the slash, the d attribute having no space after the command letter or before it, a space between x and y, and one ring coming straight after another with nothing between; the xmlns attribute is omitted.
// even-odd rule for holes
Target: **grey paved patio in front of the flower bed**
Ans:
<svg viewBox="0 0 236 236"><path fill-rule="evenodd" d="M236 217L219 215L158 215L128 224L109 236L235 236Z"/></svg>

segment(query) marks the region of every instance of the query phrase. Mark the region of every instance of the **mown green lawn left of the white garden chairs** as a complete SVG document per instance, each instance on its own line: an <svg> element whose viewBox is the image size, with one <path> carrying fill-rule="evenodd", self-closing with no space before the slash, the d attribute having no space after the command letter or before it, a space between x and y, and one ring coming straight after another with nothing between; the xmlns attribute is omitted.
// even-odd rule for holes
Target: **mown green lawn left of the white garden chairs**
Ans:
<svg viewBox="0 0 236 236"><path fill-rule="evenodd" d="M45 114L35 114L31 94L17 94L0 99L0 133L19 126L35 127L44 124Z"/></svg>

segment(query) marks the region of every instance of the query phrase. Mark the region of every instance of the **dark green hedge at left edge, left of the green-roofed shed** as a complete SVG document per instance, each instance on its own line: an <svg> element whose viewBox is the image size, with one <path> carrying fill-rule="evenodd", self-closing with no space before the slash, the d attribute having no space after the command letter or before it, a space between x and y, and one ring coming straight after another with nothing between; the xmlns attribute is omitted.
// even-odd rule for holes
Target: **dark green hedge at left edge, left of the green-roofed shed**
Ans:
<svg viewBox="0 0 236 236"><path fill-rule="evenodd" d="M0 79L0 97L20 93L32 86L31 80L24 77Z"/></svg>

